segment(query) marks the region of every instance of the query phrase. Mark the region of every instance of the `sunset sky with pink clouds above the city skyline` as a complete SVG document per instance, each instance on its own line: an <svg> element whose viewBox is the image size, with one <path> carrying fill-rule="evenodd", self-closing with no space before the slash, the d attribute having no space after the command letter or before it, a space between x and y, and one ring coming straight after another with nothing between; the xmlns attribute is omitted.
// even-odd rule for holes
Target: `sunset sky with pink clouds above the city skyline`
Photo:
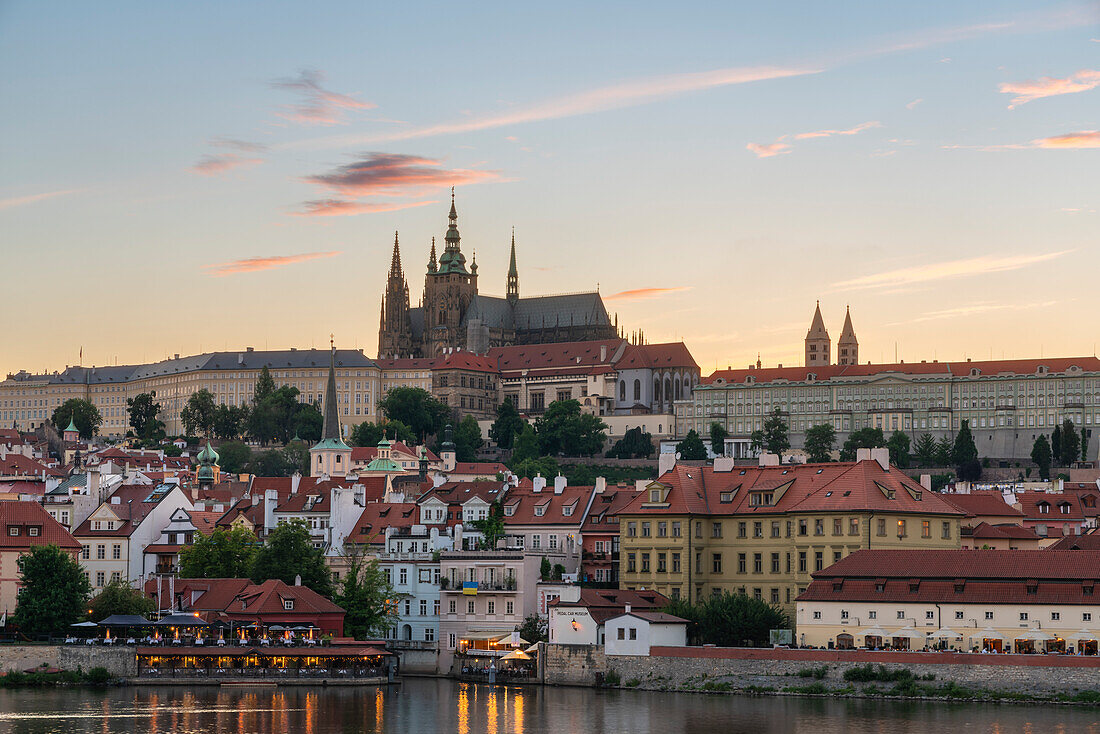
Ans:
<svg viewBox="0 0 1100 734"><path fill-rule="evenodd" d="M0 2L0 374L377 346L482 293L704 374L1097 349L1100 3ZM82 360L80 354L82 352Z"/></svg>

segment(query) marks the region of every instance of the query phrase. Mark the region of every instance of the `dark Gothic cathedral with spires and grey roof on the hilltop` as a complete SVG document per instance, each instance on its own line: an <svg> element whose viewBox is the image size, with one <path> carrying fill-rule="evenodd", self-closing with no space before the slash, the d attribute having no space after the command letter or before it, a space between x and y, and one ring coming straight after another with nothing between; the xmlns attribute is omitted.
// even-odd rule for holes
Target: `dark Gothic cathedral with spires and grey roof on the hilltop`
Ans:
<svg viewBox="0 0 1100 734"><path fill-rule="evenodd" d="M446 244L438 259L436 238L431 240L424 296L416 307L409 304L409 285L394 234L394 255L378 325L380 359L433 358L448 348L483 354L491 347L618 336L598 292L520 298L515 233L505 296L477 293L477 260L475 256L466 266L453 189L448 219Z"/></svg>

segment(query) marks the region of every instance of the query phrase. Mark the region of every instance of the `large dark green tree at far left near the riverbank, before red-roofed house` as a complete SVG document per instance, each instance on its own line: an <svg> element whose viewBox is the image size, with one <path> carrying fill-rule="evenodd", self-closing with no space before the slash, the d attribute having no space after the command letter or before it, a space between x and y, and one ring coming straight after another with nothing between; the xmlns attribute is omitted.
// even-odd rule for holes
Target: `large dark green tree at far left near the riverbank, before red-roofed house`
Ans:
<svg viewBox="0 0 1100 734"><path fill-rule="evenodd" d="M12 621L25 635L62 632L88 609L91 585L84 569L57 546L33 546L20 556L19 576Z"/></svg>

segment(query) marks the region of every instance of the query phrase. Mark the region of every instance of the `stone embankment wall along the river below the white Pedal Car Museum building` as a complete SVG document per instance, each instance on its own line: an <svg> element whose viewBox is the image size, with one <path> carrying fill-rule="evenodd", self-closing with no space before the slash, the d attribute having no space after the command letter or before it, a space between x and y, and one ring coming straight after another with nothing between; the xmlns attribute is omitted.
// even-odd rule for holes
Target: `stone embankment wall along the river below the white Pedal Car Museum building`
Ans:
<svg viewBox="0 0 1100 734"><path fill-rule="evenodd" d="M548 645L544 681L591 686L597 672L606 676L614 671L623 684L646 689L698 689L710 682L728 683L733 690L750 686L781 690L816 682L799 672L825 666L821 682L836 689L847 686L845 670L873 664L906 669L914 676L932 675L936 684L953 681L971 689L1038 695L1100 689L1100 658L1096 657L698 647L653 648L649 657L642 657L603 656L602 649L594 646L586 654L585 647Z"/></svg>

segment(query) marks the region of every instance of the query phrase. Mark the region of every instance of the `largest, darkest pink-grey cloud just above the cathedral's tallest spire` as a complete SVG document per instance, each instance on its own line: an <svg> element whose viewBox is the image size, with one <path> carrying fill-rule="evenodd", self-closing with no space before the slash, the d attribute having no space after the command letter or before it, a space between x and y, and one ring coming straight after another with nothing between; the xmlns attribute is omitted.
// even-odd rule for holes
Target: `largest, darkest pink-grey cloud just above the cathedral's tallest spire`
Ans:
<svg viewBox="0 0 1100 734"><path fill-rule="evenodd" d="M444 168L435 158L399 153L366 153L331 173L306 178L343 196L419 196L443 186L499 180L495 171Z"/></svg>

